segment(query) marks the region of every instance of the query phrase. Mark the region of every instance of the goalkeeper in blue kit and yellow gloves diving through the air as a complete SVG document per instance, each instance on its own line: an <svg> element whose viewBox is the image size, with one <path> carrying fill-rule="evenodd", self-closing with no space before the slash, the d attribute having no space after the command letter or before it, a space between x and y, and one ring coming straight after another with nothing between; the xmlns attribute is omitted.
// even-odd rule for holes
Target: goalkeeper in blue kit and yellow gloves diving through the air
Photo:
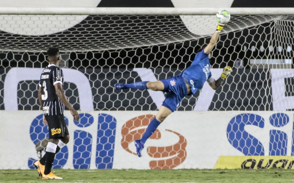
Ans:
<svg viewBox="0 0 294 183"><path fill-rule="evenodd" d="M157 129L158 125L160 125L169 114L177 109L181 100L186 95L195 94L197 90L202 89L205 81L208 82L212 89L216 90L232 72L232 68L230 66L226 66L223 69L223 73L220 78L217 80L212 78L212 74L210 72L211 65L209 60L211 58L211 51L217 43L223 26L224 24L218 24L217 30L212 35L208 45L204 49L198 50L192 64L179 75L155 82L141 81L131 84L115 84L115 89L134 88L167 92L166 99L163 101L162 106L160 107L155 118L149 123L144 135L140 140L135 140L137 155L139 157L141 157L141 151L144 148L146 140Z"/></svg>

